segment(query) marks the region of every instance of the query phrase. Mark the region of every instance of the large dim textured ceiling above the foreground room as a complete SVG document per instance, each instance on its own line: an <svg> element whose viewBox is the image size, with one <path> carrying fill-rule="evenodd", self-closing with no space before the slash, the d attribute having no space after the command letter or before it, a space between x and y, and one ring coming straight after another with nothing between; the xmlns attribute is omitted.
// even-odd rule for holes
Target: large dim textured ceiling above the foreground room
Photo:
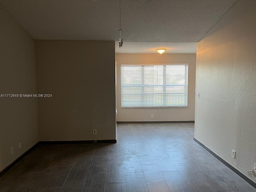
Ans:
<svg viewBox="0 0 256 192"><path fill-rule="evenodd" d="M121 0L122 38L126 42L198 42L236 1ZM0 3L34 39L119 39L119 0Z"/></svg>

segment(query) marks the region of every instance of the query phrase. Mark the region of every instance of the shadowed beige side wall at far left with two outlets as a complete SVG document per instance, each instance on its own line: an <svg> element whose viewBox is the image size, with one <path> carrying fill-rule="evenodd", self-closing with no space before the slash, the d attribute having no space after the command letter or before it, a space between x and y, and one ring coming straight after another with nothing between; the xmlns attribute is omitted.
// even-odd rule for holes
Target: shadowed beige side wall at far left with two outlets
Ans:
<svg viewBox="0 0 256 192"><path fill-rule="evenodd" d="M0 94L16 93L36 94L34 40L0 5ZM37 99L0 97L0 171L37 142Z"/></svg>

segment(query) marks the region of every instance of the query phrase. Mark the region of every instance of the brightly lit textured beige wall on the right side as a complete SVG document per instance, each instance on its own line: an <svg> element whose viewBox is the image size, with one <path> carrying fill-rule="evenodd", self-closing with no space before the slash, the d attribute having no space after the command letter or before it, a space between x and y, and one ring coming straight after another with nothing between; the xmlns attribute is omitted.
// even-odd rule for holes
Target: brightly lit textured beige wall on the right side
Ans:
<svg viewBox="0 0 256 192"><path fill-rule="evenodd" d="M195 138L246 176L256 162L255 8L239 0L198 43L196 63Z"/></svg>

